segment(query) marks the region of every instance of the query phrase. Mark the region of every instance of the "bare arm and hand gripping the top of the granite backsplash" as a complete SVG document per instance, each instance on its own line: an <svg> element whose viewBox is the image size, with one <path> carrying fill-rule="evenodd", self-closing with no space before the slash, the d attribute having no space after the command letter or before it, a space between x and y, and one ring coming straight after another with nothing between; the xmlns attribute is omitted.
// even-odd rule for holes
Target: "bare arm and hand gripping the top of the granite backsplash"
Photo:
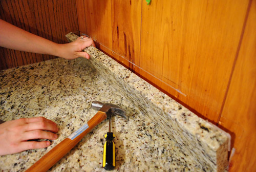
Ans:
<svg viewBox="0 0 256 172"><path fill-rule="evenodd" d="M79 37L69 44L57 44L48 39L34 35L0 19L0 46L39 54L50 54L66 59L83 57L89 59L86 52L81 52L89 46L95 46L91 38Z"/></svg>

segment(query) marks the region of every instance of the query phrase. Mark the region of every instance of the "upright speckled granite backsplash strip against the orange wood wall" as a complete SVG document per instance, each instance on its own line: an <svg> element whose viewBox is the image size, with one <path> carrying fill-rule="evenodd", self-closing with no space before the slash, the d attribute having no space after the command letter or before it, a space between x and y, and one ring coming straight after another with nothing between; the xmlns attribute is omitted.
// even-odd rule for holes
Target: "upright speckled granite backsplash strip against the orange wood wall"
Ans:
<svg viewBox="0 0 256 172"><path fill-rule="evenodd" d="M69 33L66 37L74 41L78 36ZM102 77L174 139L183 154L194 157L204 171L225 170L229 134L199 118L95 47L84 51L90 54L93 67Z"/></svg>

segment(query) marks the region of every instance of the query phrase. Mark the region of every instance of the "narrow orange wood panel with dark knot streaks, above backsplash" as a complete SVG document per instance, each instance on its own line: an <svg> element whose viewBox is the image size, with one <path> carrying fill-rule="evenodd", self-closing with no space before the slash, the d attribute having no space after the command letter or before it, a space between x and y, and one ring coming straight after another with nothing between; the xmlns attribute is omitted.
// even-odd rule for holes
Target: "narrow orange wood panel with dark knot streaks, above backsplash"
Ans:
<svg viewBox="0 0 256 172"><path fill-rule="evenodd" d="M112 50L133 71L140 62L141 0L112 1ZM126 60L127 61L126 61Z"/></svg>

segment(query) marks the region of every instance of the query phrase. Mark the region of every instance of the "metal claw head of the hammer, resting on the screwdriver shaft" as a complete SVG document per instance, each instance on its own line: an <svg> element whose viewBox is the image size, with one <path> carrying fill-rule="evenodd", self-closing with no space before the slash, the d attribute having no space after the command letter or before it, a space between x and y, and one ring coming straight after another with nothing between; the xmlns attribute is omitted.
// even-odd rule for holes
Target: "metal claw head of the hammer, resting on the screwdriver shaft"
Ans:
<svg viewBox="0 0 256 172"><path fill-rule="evenodd" d="M101 112L105 112L107 116L118 115L126 119L125 112L115 104L93 101L92 108Z"/></svg>

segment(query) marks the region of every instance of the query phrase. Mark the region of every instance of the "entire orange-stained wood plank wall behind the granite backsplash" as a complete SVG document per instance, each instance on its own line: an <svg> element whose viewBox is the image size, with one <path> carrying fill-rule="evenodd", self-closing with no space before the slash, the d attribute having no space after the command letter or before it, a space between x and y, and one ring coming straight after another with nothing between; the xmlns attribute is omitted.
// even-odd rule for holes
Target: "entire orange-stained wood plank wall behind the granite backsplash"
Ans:
<svg viewBox="0 0 256 172"><path fill-rule="evenodd" d="M254 170L255 1L76 3L80 34L229 132L237 149L230 171Z"/></svg>

